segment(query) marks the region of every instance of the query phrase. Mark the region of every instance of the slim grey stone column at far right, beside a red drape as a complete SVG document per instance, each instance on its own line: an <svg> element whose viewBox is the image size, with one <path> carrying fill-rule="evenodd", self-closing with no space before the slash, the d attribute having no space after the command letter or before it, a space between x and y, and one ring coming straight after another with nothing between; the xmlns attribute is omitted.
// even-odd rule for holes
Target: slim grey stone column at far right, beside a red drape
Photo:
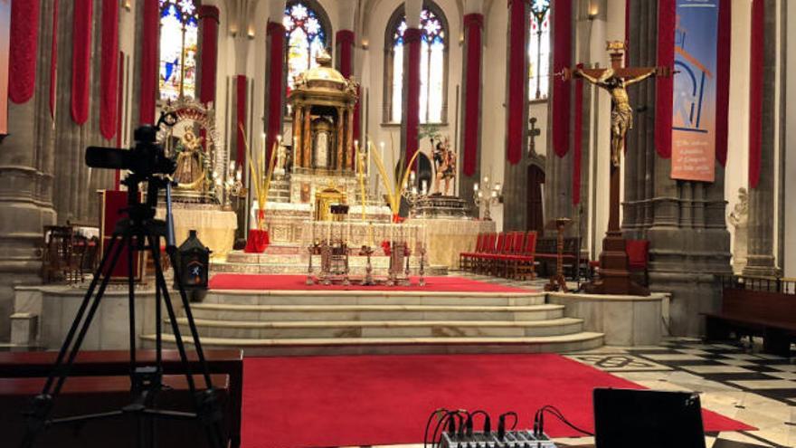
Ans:
<svg viewBox="0 0 796 448"><path fill-rule="evenodd" d="M777 0L763 2L763 110L760 181L749 188L749 237L744 275L776 275L774 253L774 151L776 147ZM754 7L754 6L753 6ZM758 49L752 49L754 52Z"/></svg>

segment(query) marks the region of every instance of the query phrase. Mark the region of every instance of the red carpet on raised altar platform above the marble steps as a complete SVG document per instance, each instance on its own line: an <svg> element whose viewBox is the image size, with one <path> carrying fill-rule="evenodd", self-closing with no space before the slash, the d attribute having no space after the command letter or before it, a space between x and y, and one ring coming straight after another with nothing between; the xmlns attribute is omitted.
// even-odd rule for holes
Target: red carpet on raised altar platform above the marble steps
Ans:
<svg viewBox="0 0 796 448"><path fill-rule="evenodd" d="M426 286L343 286L306 285L305 275L264 275L219 273L210 279L211 290L253 291L428 291L428 292L533 292L510 286L463 279L461 277L426 277Z"/></svg>

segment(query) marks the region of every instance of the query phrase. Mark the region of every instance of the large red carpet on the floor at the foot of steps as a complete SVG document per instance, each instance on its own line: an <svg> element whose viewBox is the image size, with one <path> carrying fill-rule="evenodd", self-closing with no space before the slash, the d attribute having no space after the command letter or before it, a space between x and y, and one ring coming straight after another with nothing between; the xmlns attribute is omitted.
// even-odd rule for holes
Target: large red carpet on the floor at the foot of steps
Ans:
<svg viewBox="0 0 796 448"><path fill-rule="evenodd" d="M422 443L435 408L516 411L543 405L593 431L592 389L641 388L558 355L271 357L244 360L244 448ZM711 412L706 431L753 429ZM545 432L578 435L553 418Z"/></svg>

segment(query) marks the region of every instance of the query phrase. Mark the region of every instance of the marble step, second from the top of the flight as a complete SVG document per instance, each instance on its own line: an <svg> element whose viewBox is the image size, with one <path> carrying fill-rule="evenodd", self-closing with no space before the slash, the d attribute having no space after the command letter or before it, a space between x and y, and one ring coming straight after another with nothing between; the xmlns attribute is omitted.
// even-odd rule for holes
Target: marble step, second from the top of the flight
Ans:
<svg viewBox="0 0 796 448"><path fill-rule="evenodd" d="M564 305L233 305L194 303L196 319L222 320L545 320L564 317Z"/></svg>

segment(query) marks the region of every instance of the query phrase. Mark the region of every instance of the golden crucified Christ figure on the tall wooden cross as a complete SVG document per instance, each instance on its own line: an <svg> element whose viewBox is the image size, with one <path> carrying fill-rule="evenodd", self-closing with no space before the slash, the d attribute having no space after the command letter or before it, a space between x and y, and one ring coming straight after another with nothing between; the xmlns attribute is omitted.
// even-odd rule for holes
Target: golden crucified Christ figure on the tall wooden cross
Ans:
<svg viewBox="0 0 796 448"><path fill-rule="evenodd" d="M602 71L601 76L598 78L582 69L578 69L575 74L611 94L611 166L619 167L625 136L628 133L628 129L633 128L633 108L630 107L630 99L626 89L628 86L644 81L650 76L665 75L665 73L660 69L650 69L630 78L616 75L613 69L606 69Z"/></svg>

